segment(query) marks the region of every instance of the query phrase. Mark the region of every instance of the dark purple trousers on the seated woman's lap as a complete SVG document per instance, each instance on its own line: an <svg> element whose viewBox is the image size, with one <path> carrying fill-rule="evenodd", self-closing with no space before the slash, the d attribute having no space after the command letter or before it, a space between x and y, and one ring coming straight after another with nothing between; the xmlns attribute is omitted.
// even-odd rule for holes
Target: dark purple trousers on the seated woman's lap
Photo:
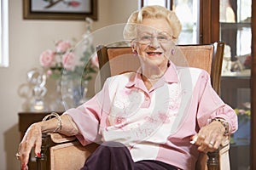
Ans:
<svg viewBox="0 0 256 170"><path fill-rule="evenodd" d="M162 161L143 160L134 162L124 144L106 142L101 144L85 161L83 170L177 170Z"/></svg>

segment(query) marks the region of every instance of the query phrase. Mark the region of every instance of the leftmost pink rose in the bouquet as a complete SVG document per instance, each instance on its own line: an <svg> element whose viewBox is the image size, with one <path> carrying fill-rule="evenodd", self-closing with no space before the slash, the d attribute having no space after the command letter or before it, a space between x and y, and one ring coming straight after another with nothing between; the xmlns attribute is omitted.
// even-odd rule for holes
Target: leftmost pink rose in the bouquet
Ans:
<svg viewBox="0 0 256 170"><path fill-rule="evenodd" d="M44 67L55 65L55 52L48 49L44 51L39 58L40 64Z"/></svg>

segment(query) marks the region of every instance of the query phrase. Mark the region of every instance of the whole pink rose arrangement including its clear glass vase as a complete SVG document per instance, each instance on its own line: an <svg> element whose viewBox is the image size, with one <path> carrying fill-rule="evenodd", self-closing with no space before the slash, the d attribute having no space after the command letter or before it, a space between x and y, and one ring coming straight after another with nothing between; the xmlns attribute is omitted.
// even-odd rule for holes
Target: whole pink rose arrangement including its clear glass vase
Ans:
<svg viewBox="0 0 256 170"><path fill-rule="evenodd" d="M53 111L76 107L87 98L87 85L93 74L98 71L98 58L93 46L90 26L92 20L86 18L86 31L82 41L58 40L55 48L47 49L39 56L40 65L43 66L47 77L56 82L56 94ZM75 45L74 45L75 44Z"/></svg>

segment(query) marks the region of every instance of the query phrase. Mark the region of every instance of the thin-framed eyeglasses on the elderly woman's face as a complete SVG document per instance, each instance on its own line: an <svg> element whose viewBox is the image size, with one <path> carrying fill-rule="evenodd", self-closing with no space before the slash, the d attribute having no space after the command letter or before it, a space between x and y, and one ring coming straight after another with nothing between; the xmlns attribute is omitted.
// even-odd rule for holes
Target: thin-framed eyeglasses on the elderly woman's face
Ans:
<svg viewBox="0 0 256 170"><path fill-rule="evenodd" d="M157 36L145 34L142 37L134 38L133 41L143 43L143 44L150 44L154 41L154 38L156 38L157 42L159 42L159 43L170 43L174 39L174 37L171 37L165 33L160 33Z"/></svg>

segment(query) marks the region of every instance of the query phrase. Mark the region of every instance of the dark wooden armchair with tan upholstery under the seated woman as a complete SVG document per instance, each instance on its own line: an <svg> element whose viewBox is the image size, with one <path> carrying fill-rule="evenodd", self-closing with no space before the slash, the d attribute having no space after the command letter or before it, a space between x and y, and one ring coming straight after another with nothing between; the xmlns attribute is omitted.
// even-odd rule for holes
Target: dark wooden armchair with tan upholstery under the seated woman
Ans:
<svg viewBox="0 0 256 170"><path fill-rule="evenodd" d="M209 72L212 87L219 94L220 75L224 55L224 43L214 42L204 45L179 46L189 66L199 67ZM101 68L101 83L106 78L126 71L137 71L139 62L131 54L130 47L98 46L97 55ZM119 56L122 56L120 59ZM178 63L179 60L174 60ZM102 85L101 84L101 85ZM97 144L83 147L75 137L66 137L59 133L43 135L42 157L37 158L38 170L70 170L83 167L85 159L95 150ZM215 152L201 154L197 170L229 170L230 141L227 139Z"/></svg>

